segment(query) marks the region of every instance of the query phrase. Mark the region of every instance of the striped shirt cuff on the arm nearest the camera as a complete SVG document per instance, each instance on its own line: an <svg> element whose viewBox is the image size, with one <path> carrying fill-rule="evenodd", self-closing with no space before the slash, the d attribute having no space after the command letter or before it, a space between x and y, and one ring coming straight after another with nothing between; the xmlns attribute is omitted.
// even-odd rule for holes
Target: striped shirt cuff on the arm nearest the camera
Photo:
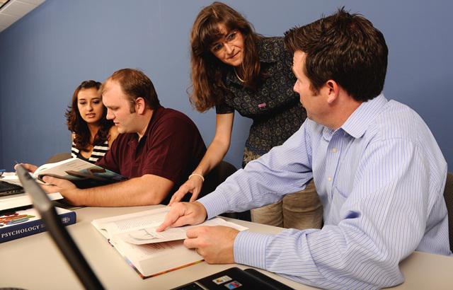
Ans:
<svg viewBox="0 0 453 290"><path fill-rule="evenodd" d="M270 235L240 231L234 240L234 262L266 269L266 245Z"/></svg>

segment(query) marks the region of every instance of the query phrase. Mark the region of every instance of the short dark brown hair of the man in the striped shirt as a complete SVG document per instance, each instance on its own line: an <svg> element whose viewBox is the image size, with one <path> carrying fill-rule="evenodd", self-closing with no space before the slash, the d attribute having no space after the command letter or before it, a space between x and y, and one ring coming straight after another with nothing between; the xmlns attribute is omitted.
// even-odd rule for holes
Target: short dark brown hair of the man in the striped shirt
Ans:
<svg viewBox="0 0 453 290"><path fill-rule="evenodd" d="M389 50L384 35L360 14L341 8L287 31L285 44L292 53L306 53L303 69L314 91L332 79L355 100L366 101L384 88Z"/></svg>

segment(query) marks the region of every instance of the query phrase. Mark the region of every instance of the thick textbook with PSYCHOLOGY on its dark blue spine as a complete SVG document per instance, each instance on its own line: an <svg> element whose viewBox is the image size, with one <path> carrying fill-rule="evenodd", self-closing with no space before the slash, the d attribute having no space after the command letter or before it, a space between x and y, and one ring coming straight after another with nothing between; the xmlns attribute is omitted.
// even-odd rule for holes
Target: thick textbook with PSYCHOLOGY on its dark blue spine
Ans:
<svg viewBox="0 0 453 290"><path fill-rule="evenodd" d="M62 224L68 226L76 222L76 212L68 209L55 208L62 219ZM0 243L30 236L45 231L45 224L42 222L38 211L35 209L24 209L20 211L9 211L0 214Z"/></svg>

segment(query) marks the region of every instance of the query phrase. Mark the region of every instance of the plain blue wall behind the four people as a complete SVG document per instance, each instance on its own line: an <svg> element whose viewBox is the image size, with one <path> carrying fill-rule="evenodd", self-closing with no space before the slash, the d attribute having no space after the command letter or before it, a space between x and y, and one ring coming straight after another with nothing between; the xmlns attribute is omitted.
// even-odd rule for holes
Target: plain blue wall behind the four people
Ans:
<svg viewBox="0 0 453 290"><path fill-rule="evenodd" d="M0 33L0 168L13 161L43 163L69 151L64 110L85 79L103 81L116 69L142 69L161 103L189 115L209 144L213 110L190 108L188 35L211 1L47 0ZM453 170L452 1L226 1L263 35L282 35L345 5L369 18L386 37L384 93L414 108L428 123ZM236 116L226 160L241 164L251 122Z"/></svg>

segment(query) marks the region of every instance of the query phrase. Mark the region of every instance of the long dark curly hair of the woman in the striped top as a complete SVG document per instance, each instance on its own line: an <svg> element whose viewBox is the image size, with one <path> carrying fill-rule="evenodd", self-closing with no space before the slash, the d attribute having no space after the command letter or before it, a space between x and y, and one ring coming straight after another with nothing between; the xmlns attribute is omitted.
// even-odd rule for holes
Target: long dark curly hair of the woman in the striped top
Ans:
<svg viewBox="0 0 453 290"><path fill-rule="evenodd" d="M101 88L101 83L98 81L82 81L79 86L77 86L74 94L72 95L71 105L68 106L66 113L64 114L67 120L68 129L71 132L74 132L74 144L79 150L86 150L88 146L93 145L102 145L105 140L108 140L108 131L110 127L113 126L112 120L107 120L107 108L103 105L103 114L101 120L99 120L99 130L96 136L94 137L93 144L91 144L91 133L88 129L88 124L82 119L82 116L79 112L79 107L77 106L77 96L79 91L87 88L96 88L99 90Z"/></svg>

